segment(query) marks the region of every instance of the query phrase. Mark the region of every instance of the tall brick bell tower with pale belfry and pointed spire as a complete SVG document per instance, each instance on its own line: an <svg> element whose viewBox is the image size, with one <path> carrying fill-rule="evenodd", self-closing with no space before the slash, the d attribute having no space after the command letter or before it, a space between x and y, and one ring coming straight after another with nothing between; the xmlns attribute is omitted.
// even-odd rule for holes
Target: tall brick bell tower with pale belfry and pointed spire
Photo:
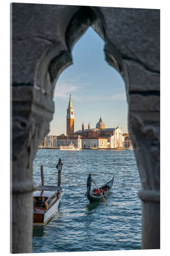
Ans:
<svg viewBox="0 0 170 256"><path fill-rule="evenodd" d="M74 129L74 109L72 108L71 103L71 94L69 96L69 103L67 108L67 136L74 135L75 129Z"/></svg>

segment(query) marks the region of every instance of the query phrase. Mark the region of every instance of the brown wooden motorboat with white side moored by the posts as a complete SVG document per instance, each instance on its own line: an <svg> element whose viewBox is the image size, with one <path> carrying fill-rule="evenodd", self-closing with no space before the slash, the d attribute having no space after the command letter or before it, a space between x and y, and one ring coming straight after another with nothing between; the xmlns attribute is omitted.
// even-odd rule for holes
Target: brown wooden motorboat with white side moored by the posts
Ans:
<svg viewBox="0 0 170 256"><path fill-rule="evenodd" d="M39 190L33 192L33 225L45 225L58 211L62 196L59 186L39 186Z"/></svg>

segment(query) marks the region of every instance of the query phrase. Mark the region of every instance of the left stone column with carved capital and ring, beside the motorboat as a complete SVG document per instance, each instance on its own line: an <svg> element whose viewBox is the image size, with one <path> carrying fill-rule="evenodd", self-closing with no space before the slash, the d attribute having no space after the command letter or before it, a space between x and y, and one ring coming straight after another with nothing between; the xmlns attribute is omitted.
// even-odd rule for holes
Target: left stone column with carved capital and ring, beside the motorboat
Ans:
<svg viewBox="0 0 170 256"><path fill-rule="evenodd" d="M33 160L49 131L54 103L33 86L12 89L11 252L32 252ZM19 225L18 225L19 223Z"/></svg>

